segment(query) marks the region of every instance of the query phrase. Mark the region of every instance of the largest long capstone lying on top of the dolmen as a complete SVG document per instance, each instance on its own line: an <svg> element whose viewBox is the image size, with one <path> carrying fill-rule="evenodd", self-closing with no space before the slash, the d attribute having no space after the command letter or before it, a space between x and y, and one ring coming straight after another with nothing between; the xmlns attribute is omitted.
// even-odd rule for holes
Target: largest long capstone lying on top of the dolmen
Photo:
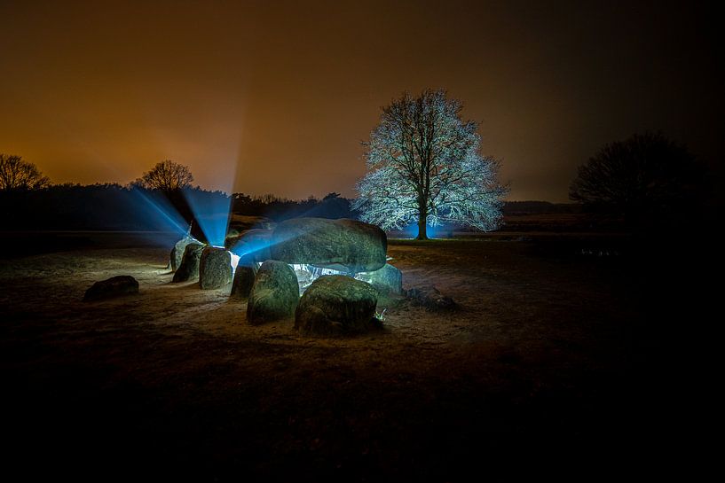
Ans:
<svg viewBox="0 0 725 483"><path fill-rule="evenodd" d="M356 220L294 218L272 232L272 259L357 273L382 269L388 238Z"/></svg>

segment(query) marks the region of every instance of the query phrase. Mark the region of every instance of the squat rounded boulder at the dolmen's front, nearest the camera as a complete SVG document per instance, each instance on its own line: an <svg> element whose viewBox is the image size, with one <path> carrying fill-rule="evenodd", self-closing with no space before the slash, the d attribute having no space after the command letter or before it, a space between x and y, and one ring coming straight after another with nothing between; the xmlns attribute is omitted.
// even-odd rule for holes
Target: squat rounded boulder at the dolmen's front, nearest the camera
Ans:
<svg viewBox="0 0 725 483"><path fill-rule="evenodd" d="M325 275L307 287L295 313L304 335L342 335L381 327L372 285L343 275Z"/></svg>

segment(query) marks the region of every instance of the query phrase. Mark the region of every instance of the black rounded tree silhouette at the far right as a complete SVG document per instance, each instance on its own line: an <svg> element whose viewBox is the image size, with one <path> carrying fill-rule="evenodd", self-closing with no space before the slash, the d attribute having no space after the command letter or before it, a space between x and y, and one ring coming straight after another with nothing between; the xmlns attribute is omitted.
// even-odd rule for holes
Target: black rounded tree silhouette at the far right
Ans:
<svg viewBox="0 0 725 483"><path fill-rule="evenodd" d="M629 224L676 222L701 196L695 156L661 133L606 144L579 167L569 198Z"/></svg>

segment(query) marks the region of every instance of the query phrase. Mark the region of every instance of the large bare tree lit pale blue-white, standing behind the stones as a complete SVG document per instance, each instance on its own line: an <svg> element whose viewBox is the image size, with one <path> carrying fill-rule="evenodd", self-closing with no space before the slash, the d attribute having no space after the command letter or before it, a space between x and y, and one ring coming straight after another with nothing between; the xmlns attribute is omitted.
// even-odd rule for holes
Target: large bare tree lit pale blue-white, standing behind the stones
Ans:
<svg viewBox="0 0 725 483"><path fill-rule="evenodd" d="M364 221L386 230L417 222L418 239L428 238L428 224L498 226L507 190L496 181L497 162L478 152L477 122L461 121L461 109L443 90L404 93L383 107L364 143L367 174L353 205Z"/></svg>

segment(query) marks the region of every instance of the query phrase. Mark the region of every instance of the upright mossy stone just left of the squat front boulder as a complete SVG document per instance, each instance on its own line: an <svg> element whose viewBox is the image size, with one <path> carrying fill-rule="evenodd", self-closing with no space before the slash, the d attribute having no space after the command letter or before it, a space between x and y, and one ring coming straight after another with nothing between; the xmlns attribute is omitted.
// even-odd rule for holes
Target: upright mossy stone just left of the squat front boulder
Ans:
<svg viewBox="0 0 725 483"><path fill-rule="evenodd" d="M265 261L249 293L247 321L257 325L292 318L299 299L295 271L284 261Z"/></svg>

